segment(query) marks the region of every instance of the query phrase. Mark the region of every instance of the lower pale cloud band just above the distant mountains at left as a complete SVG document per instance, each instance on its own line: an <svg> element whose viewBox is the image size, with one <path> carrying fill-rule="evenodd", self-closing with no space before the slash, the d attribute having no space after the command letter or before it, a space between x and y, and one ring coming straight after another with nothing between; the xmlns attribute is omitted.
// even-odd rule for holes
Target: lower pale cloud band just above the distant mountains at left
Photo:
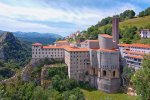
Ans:
<svg viewBox="0 0 150 100"><path fill-rule="evenodd" d="M24 32L49 32L49 33L58 33L62 35L62 33L65 33L66 30L68 31L75 31L73 29L65 29L65 28L58 28L56 27L50 27L43 24L35 24L35 23L29 23L29 22L21 22L21 21L15 21L8 18L0 18L0 27L3 30L6 31L24 31Z"/></svg>

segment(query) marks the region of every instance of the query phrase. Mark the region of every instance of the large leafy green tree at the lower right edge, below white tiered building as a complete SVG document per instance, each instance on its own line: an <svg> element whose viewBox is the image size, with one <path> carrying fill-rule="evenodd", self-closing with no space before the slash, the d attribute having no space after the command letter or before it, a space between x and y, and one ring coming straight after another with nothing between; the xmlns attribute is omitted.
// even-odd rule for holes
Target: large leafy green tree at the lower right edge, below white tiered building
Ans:
<svg viewBox="0 0 150 100"><path fill-rule="evenodd" d="M142 68L132 77L133 85L142 100L150 100L150 55L144 57Z"/></svg>

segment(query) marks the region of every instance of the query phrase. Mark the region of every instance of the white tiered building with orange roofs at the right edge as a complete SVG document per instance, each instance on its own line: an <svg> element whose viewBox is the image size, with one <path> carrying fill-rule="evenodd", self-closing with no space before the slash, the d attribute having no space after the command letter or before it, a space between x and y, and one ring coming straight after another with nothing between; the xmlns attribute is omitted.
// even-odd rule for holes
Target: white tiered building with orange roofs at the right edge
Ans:
<svg viewBox="0 0 150 100"><path fill-rule="evenodd" d="M121 64L138 70L145 54L150 53L150 45L146 44L119 44Z"/></svg>

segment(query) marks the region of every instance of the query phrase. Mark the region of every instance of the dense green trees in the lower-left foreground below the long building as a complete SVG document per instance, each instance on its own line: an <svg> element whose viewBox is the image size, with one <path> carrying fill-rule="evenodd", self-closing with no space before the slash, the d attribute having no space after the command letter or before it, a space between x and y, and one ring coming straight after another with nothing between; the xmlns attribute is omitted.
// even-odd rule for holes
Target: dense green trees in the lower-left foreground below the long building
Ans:
<svg viewBox="0 0 150 100"><path fill-rule="evenodd" d="M54 65L47 69L44 80L48 85L41 85L37 81L41 76L43 65ZM34 67L28 82L20 77L14 82L0 84L0 99L8 100L85 100L79 86L80 84L67 75L67 67L59 62L49 62L47 59Z"/></svg>

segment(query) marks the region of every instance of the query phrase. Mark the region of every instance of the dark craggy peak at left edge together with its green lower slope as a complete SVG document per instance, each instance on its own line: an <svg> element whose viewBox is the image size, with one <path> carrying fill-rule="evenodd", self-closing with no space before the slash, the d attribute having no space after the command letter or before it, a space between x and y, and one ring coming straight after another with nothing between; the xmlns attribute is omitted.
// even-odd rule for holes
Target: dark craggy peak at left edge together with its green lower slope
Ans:
<svg viewBox="0 0 150 100"><path fill-rule="evenodd" d="M31 58L31 46L19 41L10 32L0 36L0 80L13 76Z"/></svg>

